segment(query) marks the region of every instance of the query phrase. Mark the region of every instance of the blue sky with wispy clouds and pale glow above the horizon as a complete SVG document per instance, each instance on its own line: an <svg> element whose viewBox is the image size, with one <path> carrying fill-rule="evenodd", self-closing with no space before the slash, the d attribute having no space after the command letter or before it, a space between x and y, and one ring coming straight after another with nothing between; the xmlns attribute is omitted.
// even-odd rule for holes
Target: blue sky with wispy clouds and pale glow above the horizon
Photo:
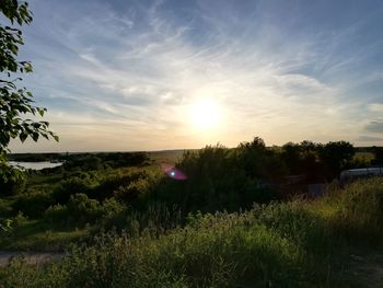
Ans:
<svg viewBox="0 0 383 288"><path fill-rule="evenodd" d="M31 0L23 84L60 142L13 152L383 145L381 0Z"/></svg>

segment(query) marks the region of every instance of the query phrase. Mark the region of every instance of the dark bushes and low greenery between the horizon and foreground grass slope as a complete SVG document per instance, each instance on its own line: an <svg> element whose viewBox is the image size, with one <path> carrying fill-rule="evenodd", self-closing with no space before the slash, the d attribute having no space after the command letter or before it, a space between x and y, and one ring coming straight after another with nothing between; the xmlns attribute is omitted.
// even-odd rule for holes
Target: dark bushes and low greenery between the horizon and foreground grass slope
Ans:
<svg viewBox="0 0 383 288"><path fill-rule="evenodd" d="M185 223L189 212L235 212L249 209L253 203L288 200L291 195L305 195L307 184L324 182L329 176L325 168L334 164L337 171L360 163L349 152L326 162L324 154L330 154L334 147L353 151L341 141L304 141L275 149L265 147L260 138L234 149L216 146L185 151L175 163L187 175L185 181L164 175L159 165L166 161L164 153L10 154L18 161L65 162L0 183L1 226L12 228L1 237L0 247L62 250L68 239L88 241L105 229L126 229L131 219L144 219L140 226L146 226L148 210L158 207ZM291 174L301 175L301 183L289 183ZM15 220L20 216L23 221ZM46 231L51 241L46 241ZM62 235L62 241L56 235Z"/></svg>

